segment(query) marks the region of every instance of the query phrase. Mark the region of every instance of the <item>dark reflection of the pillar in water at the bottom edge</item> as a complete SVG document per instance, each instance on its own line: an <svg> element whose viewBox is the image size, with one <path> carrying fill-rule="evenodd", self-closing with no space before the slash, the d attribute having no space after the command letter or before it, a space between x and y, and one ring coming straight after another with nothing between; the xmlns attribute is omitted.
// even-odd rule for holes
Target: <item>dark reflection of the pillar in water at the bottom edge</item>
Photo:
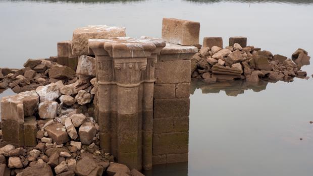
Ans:
<svg viewBox="0 0 313 176"><path fill-rule="evenodd" d="M188 175L188 162L153 165L152 170L144 171L143 174L145 176L152 176L152 175L187 176Z"/></svg>

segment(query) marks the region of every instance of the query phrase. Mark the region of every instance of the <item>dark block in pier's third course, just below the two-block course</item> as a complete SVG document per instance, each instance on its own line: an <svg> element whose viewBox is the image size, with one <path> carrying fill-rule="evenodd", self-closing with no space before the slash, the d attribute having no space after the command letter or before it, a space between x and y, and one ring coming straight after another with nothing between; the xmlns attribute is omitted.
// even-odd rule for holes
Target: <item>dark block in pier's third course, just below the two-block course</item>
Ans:
<svg viewBox="0 0 313 176"><path fill-rule="evenodd" d="M153 118L174 118L189 116L189 98L155 99Z"/></svg>

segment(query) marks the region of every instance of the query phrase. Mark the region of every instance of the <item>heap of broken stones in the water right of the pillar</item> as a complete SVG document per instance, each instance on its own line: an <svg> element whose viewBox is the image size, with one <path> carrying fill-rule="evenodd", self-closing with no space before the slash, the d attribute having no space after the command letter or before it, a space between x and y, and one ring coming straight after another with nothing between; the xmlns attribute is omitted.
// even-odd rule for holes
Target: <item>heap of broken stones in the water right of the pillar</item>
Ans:
<svg viewBox="0 0 313 176"><path fill-rule="evenodd" d="M211 47L203 45L192 57L191 77L207 83L244 79L250 83L258 83L260 79L289 82L294 77L308 79L306 72L301 71L301 67L308 65L310 59L304 49L297 49L291 60L267 50L246 46L246 38L245 42L240 37L233 40L225 48L217 46L219 43Z"/></svg>

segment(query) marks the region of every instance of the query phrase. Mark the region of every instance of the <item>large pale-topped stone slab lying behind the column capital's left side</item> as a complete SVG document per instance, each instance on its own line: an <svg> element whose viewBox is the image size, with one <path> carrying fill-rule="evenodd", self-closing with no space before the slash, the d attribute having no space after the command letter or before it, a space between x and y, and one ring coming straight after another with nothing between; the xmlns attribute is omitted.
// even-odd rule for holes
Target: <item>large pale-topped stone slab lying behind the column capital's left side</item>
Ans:
<svg viewBox="0 0 313 176"><path fill-rule="evenodd" d="M75 29L72 39L72 54L74 56L89 55L88 39L106 39L109 37L125 37L124 27L106 25L87 26Z"/></svg>

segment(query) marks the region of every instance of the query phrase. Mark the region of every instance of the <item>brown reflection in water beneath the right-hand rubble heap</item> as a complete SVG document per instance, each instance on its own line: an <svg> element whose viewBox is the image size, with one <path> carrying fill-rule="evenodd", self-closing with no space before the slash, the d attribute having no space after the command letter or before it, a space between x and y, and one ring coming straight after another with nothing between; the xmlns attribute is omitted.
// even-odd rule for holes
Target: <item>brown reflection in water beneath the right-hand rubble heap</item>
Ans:
<svg viewBox="0 0 313 176"><path fill-rule="evenodd" d="M244 93L245 90L252 89L254 92L259 92L266 89L268 81L260 80L257 84L251 84L242 80L223 81L216 83L205 83L199 79L191 80L190 93L194 94L196 89L201 89L202 93L219 93L224 90L228 96L237 96Z"/></svg>

